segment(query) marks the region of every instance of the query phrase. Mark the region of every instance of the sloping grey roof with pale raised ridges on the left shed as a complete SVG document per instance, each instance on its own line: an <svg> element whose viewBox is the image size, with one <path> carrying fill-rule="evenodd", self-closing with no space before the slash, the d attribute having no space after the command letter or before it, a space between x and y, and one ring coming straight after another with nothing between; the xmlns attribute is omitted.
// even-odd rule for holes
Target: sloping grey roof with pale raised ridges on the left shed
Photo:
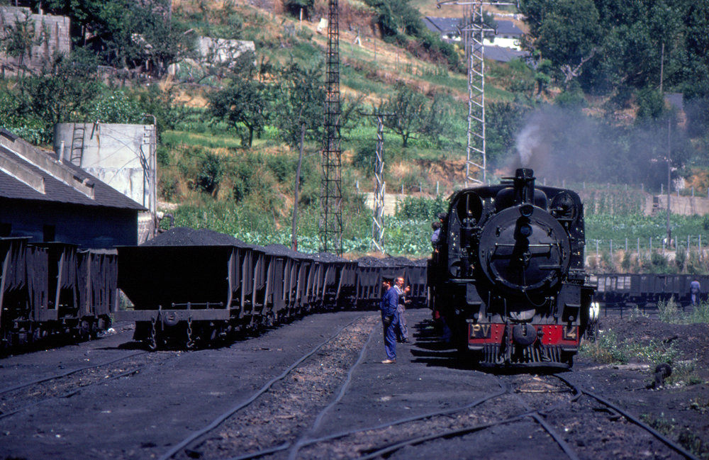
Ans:
<svg viewBox="0 0 709 460"><path fill-rule="evenodd" d="M9 165L2 167L0 164L1 198L147 211L74 164L58 162L53 152L33 147L7 130L0 130L0 136L4 144L0 145L0 159L6 159ZM13 147L17 147L17 151ZM31 149L35 162L18 153L26 149Z"/></svg>

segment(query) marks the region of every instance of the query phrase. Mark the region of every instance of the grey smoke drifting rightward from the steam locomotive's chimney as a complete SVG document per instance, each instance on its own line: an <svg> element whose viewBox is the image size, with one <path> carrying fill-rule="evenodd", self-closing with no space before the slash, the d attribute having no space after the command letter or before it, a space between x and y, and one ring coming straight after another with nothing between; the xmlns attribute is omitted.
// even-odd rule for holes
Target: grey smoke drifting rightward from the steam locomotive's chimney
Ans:
<svg viewBox="0 0 709 460"><path fill-rule="evenodd" d="M683 130L671 128L673 167L689 150ZM628 123L594 118L583 111L544 106L527 116L515 137L516 155L507 167L533 169L537 178L560 184L597 182L644 184L666 182L667 122Z"/></svg>

